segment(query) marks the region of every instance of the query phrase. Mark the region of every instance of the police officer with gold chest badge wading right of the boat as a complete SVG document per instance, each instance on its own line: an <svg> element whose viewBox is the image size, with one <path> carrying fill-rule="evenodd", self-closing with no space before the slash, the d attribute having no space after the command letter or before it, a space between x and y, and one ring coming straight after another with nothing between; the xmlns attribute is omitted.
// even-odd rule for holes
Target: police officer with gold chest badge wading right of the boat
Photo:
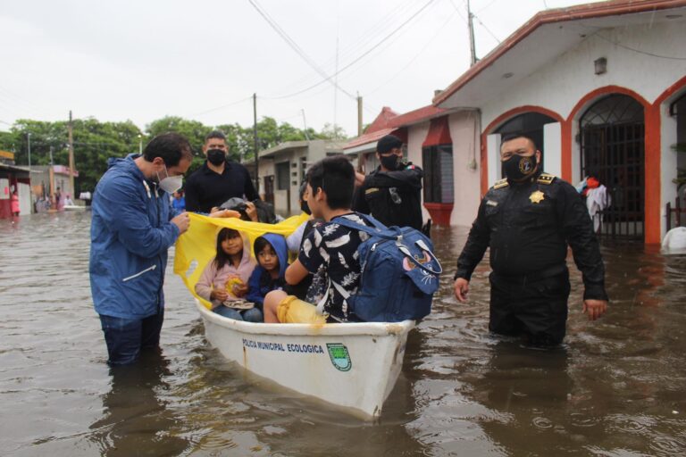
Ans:
<svg viewBox="0 0 686 457"><path fill-rule="evenodd" d="M466 301L473 270L490 247L490 331L523 335L530 345L558 345L570 291L567 245L583 276L583 312L595 320L607 310L598 239L576 189L539 169L531 138L504 138L500 158L506 179L481 200L457 260L455 295Z"/></svg>

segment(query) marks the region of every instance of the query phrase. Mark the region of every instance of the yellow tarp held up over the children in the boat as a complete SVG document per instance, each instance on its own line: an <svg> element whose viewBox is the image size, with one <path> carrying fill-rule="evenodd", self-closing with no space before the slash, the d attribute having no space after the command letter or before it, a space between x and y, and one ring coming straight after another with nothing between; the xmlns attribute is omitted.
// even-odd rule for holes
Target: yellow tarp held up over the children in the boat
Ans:
<svg viewBox="0 0 686 457"><path fill-rule="evenodd" d="M236 218L210 218L189 212L190 228L176 241L174 254L174 273L183 279L188 290L201 303L210 309L212 305L196 294L196 283L205 270L205 266L216 255L217 231L219 228L234 228L247 235L250 239L250 255L253 254L255 238L265 233L276 233L289 236L295 229L307 220L305 213L293 216L278 224L262 224L247 222Z"/></svg>

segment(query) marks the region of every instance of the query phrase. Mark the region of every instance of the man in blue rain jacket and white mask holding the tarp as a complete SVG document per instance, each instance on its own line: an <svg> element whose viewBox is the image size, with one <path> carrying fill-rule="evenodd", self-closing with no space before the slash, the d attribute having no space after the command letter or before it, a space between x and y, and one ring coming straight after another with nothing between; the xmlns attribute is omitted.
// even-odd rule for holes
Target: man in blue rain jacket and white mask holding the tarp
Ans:
<svg viewBox="0 0 686 457"><path fill-rule="evenodd" d="M93 195L90 287L110 365L159 347L167 250L188 229L171 207L193 153L175 133L153 138L142 155L110 159Z"/></svg>

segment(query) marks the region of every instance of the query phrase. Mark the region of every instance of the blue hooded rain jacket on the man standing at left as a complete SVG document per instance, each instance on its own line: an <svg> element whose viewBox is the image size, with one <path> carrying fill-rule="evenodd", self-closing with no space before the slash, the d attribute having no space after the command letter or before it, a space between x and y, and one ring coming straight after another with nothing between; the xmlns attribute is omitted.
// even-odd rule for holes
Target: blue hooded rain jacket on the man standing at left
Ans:
<svg viewBox="0 0 686 457"><path fill-rule="evenodd" d="M90 289L98 314L143 319L164 306L167 250L179 237L169 194L148 181L130 154L110 159L93 195Z"/></svg>

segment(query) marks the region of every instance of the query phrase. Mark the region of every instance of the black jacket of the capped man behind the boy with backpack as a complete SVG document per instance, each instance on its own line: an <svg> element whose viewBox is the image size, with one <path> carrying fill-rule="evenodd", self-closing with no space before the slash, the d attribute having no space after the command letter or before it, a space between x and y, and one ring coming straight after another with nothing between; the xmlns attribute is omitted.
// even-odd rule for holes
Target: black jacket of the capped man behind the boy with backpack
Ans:
<svg viewBox="0 0 686 457"><path fill-rule="evenodd" d="M409 164L405 170L373 170L357 188L353 211L372 214L387 226L422 229L421 168Z"/></svg>

